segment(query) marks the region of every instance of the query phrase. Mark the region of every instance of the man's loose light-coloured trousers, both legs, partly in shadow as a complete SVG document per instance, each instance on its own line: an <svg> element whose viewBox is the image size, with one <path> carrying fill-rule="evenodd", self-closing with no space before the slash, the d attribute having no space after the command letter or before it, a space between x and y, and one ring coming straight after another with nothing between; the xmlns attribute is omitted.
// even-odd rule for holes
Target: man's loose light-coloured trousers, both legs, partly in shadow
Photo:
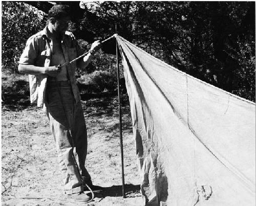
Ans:
<svg viewBox="0 0 256 206"><path fill-rule="evenodd" d="M83 180L91 182L84 164L87 128L80 102L75 103L69 81L48 82L46 115L50 121L66 194L83 191Z"/></svg>

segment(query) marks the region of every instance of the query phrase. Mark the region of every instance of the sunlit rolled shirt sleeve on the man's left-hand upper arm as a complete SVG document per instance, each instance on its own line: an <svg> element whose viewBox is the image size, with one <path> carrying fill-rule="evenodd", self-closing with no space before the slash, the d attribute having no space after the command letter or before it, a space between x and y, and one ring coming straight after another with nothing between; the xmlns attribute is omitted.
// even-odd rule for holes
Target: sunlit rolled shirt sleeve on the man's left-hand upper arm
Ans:
<svg viewBox="0 0 256 206"><path fill-rule="evenodd" d="M19 58L19 64L34 64L38 53L38 41L35 36L28 39L22 56Z"/></svg>

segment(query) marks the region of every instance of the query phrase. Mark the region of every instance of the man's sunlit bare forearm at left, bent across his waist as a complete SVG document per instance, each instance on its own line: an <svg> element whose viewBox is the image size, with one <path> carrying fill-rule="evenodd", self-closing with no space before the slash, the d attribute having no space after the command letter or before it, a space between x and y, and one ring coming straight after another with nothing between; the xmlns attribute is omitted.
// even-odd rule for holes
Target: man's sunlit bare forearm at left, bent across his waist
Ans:
<svg viewBox="0 0 256 206"><path fill-rule="evenodd" d="M56 77L61 71L61 68L58 66L41 67L32 64L19 64L18 71L30 75L45 74L50 77Z"/></svg>

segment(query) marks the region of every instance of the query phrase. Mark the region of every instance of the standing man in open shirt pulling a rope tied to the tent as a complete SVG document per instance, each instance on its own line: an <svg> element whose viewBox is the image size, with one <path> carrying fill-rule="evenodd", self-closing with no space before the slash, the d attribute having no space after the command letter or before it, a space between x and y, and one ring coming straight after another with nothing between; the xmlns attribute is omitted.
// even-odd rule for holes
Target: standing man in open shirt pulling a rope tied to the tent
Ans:
<svg viewBox="0 0 256 206"><path fill-rule="evenodd" d="M31 103L43 106L49 118L65 193L77 201L87 202L91 197L83 193L85 184L93 185L84 166L87 128L75 82L75 67L85 68L100 42L92 44L87 56L58 66L82 54L73 34L66 31L69 13L66 5L50 9L48 26L28 39L18 70L29 74Z"/></svg>

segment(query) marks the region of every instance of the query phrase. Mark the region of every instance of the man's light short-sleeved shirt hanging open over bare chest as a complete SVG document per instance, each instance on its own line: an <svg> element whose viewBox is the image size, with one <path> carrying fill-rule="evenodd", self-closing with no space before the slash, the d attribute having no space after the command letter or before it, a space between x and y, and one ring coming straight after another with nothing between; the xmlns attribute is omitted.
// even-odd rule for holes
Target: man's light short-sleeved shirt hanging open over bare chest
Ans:
<svg viewBox="0 0 256 206"><path fill-rule="evenodd" d="M79 45L71 32L66 31L62 37L61 48L65 61L71 61L82 54ZM52 39L49 30L44 30L31 36L26 48L19 59L19 64L32 64L35 66L48 67L52 57ZM79 90L75 80L76 62L67 65L67 72L76 102L80 101ZM30 102L42 107L45 103L46 83L48 75L29 75Z"/></svg>

